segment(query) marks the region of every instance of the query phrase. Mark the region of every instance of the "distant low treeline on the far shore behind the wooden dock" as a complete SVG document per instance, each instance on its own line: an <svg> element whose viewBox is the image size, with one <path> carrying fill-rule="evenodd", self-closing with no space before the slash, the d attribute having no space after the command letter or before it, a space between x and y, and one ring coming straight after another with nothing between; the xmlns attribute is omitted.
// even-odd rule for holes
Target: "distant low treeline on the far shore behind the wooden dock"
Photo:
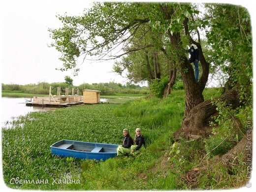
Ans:
<svg viewBox="0 0 256 192"><path fill-rule="evenodd" d="M70 81L69 81L70 82ZM149 94L148 87L140 87L139 85L127 84L122 85L121 83L109 82L109 83L83 83L79 86L73 86L66 82L63 83L45 83L40 82L37 84L28 84L28 85L18 85L18 84L1 84L2 92L17 92L17 93L28 93L28 94L40 94L40 95L48 95L49 87L52 87L52 94L57 94L57 87L61 87L63 89L63 93L65 94L65 88L78 88L79 95L82 95L82 90L90 89L90 90L100 90L101 95L114 95L114 94ZM70 93L71 94L71 89Z"/></svg>

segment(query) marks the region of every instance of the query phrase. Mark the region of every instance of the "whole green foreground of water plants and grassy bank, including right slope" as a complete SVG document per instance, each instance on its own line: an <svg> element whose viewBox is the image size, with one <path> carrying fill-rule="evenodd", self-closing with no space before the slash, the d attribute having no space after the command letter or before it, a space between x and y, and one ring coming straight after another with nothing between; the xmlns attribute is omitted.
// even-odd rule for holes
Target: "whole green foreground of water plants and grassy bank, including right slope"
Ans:
<svg viewBox="0 0 256 192"><path fill-rule="evenodd" d="M218 89L204 92L205 99L220 94ZM12 128L2 130L4 181L11 188L41 190L174 190L242 186L246 180L246 166L242 161L241 166L234 167L232 175L216 164L216 169L206 166L196 184L184 179L207 150L211 150L209 146L216 144L214 138L174 143L172 135L181 126L184 103L185 94L181 90L163 99L140 98L124 104L72 106L21 117ZM61 139L121 144L122 129L129 128L133 135L137 127L142 128L148 147L135 157L96 162L60 158L50 152L49 146ZM11 184L10 180L17 177L48 179L49 184ZM67 177L80 179L80 184L52 185L53 180Z"/></svg>

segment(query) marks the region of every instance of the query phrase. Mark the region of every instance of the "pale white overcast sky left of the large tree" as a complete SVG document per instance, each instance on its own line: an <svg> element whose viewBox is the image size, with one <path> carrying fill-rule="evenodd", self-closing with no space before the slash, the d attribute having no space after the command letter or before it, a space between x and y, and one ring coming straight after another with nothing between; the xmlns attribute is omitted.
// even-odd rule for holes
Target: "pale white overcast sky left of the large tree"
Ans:
<svg viewBox="0 0 256 192"><path fill-rule="evenodd" d="M255 6L246 0L229 2L243 3L251 14L254 12ZM47 30L61 26L57 14L81 14L90 5L89 0L2 0L0 4L1 83L64 82L64 76L69 75L74 85L109 81L125 84L126 79L111 72L112 60L85 62L75 77L72 70L55 70L62 67L62 63L58 59L60 53L47 46L51 42Z"/></svg>

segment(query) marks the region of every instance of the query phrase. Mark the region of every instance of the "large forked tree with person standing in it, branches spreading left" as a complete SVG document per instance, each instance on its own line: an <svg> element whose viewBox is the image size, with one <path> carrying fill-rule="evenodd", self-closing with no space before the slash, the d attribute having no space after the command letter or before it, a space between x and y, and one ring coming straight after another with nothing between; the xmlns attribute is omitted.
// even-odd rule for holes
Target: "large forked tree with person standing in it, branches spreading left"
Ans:
<svg viewBox="0 0 256 192"><path fill-rule="evenodd" d="M250 44L251 31L248 27L250 20L247 19L246 10L243 9L242 12L243 14L240 10L239 13L225 15L224 11L224 19L219 19L222 22L219 22L220 24L217 22L217 24L215 20L218 18L199 18L199 11L196 7L187 3L94 3L92 8L86 10L82 16L59 16L63 27L50 30L50 32L54 39L52 46L62 53L60 58L64 62L62 70L74 69L75 72L78 71L77 57L84 60L88 56L98 56L98 59L120 58L131 52L155 47L155 44L151 43L130 46L134 42L134 37L145 38L149 32L147 29L150 29L154 36L162 34L164 40L158 43L161 45L159 49L166 54L170 64L175 64L181 73L186 93L186 108L181 130L187 135L204 134L208 128L207 121L217 111L211 100L204 101L202 92L208 80L210 63L204 57L200 36L194 38L192 34L199 34L198 27L210 29L209 34L212 32L213 35L217 35L213 29L223 30L221 34L224 34L225 31L228 31L225 19L230 19L232 20L230 25L235 25L238 29L232 31L237 36L236 38L241 40L241 35L243 38L246 36L249 41L247 43ZM209 11L208 16L210 14L214 13ZM243 26L243 30L240 33L241 26ZM227 35L231 34L227 33ZM225 38L229 38L229 36ZM216 47L215 44L222 42L218 38L211 40L213 48ZM226 41L226 44L232 44L229 39ZM194 79L192 64L188 60L187 48L191 43L196 44L200 50L202 71L198 84ZM242 43L239 45L244 49ZM219 46L221 45L219 44ZM120 47L123 50L126 50L127 47L131 48L120 53L116 49ZM248 51L250 52L250 49ZM221 51L218 53L222 54ZM238 53L244 56L243 51L238 50ZM230 65L233 65L229 58L227 60L230 61ZM241 99L237 89L231 89L219 100L236 107L240 105Z"/></svg>

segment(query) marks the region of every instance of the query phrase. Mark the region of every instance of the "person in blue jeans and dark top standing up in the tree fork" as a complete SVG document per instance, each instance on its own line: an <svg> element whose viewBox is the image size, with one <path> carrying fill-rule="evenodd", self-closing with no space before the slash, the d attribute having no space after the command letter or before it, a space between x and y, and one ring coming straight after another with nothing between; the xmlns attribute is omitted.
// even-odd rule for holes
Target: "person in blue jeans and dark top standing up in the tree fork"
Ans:
<svg viewBox="0 0 256 192"><path fill-rule="evenodd" d="M190 63L194 64L194 78L195 82L198 83L198 78L199 78L199 49L195 44L191 44L190 49L188 50L190 53Z"/></svg>

